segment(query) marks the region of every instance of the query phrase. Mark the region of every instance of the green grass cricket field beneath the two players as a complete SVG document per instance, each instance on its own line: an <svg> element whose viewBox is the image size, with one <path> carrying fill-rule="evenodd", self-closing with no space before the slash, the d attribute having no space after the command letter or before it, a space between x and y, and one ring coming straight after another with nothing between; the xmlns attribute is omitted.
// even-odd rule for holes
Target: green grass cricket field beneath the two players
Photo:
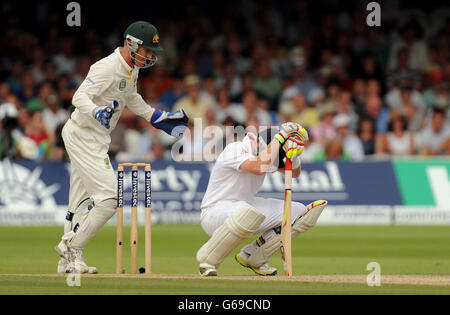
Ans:
<svg viewBox="0 0 450 315"><path fill-rule="evenodd" d="M143 227L139 229L141 267L144 235ZM218 278L200 278L195 254L208 239L201 227L154 225L154 277L82 277L79 287L68 286L64 276L54 276L59 257L53 248L61 232L62 227L0 227L0 294L450 294L448 283L383 283L386 275L448 279L450 229L444 226L317 226L293 241L293 270L300 279L287 281L280 276L248 277L254 276L253 272L233 258L238 250L220 266ZM124 236L124 268L129 271L129 228ZM101 274L113 274L115 227L102 228L86 247L84 257ZM381 266L381 286L345 281L345 275L365 279L369 273L366 266L372 261ZM282 273L279 254L272 265ZM339 275L344 280L301 280L308 275Z"/></svg>

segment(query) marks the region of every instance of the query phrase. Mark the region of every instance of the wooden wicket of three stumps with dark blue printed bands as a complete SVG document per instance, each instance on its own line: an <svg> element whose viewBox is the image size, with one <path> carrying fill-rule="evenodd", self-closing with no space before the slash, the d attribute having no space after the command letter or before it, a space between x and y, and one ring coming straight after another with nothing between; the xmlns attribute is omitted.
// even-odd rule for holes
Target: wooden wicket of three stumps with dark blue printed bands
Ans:
<svg viewBox="0 0 450 315"><path fill-rule="evenodd" d="M131 273L137 273L138 249L138 169L145 169L145 273L151 274L151 174L149 163L121 163L117 167L117 239L116 239L116 273L123 269L123 178L124 168L131 167Z"/></svg>

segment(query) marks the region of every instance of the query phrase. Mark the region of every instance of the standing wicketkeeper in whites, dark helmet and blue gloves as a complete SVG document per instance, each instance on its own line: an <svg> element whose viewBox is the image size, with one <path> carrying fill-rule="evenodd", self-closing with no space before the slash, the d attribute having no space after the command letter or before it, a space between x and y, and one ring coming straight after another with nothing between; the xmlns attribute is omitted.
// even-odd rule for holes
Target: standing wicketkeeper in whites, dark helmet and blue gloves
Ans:
<svg viewBox="0 0 450 315"><path fill-rule="evenodd" d="M85 263L83 248L116 213L117 180L108 149L125 106L171 136L179 138L187 127L182 109L152 108L137 92L139 70L153 66L156 53L163 51L159 42L152 24L132 23L123 46L90 67L72 98L75 110L62 130L71 173L64 235L55 247L59 273L97 273Z"/></svg>

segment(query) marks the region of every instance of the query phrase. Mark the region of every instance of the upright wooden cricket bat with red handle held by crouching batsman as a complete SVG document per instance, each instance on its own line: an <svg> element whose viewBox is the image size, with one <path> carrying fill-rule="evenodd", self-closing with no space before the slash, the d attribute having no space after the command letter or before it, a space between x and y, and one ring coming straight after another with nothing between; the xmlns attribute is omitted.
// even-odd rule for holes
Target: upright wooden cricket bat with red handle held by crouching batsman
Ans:
<svg viewBox="0 0 450 315"><path fill-rule="evenodd" d="M292 222L292 161L286 157L284 168L284 211L281 223L281 258L284 273L292 276L291 222Z"/></svg>

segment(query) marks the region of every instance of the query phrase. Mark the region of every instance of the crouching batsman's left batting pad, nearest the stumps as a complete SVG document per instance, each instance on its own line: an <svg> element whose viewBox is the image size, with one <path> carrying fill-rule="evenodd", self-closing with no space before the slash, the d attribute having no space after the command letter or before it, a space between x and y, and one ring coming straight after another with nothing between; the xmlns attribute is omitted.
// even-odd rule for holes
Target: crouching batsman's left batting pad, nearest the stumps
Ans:
<svg viewBox="0 0 450 315"><path fill-rule="evenodd" d="M251 206L230 215L197 252L197 261L216 268L244 240L253 235L266 217Z"/></svg>

